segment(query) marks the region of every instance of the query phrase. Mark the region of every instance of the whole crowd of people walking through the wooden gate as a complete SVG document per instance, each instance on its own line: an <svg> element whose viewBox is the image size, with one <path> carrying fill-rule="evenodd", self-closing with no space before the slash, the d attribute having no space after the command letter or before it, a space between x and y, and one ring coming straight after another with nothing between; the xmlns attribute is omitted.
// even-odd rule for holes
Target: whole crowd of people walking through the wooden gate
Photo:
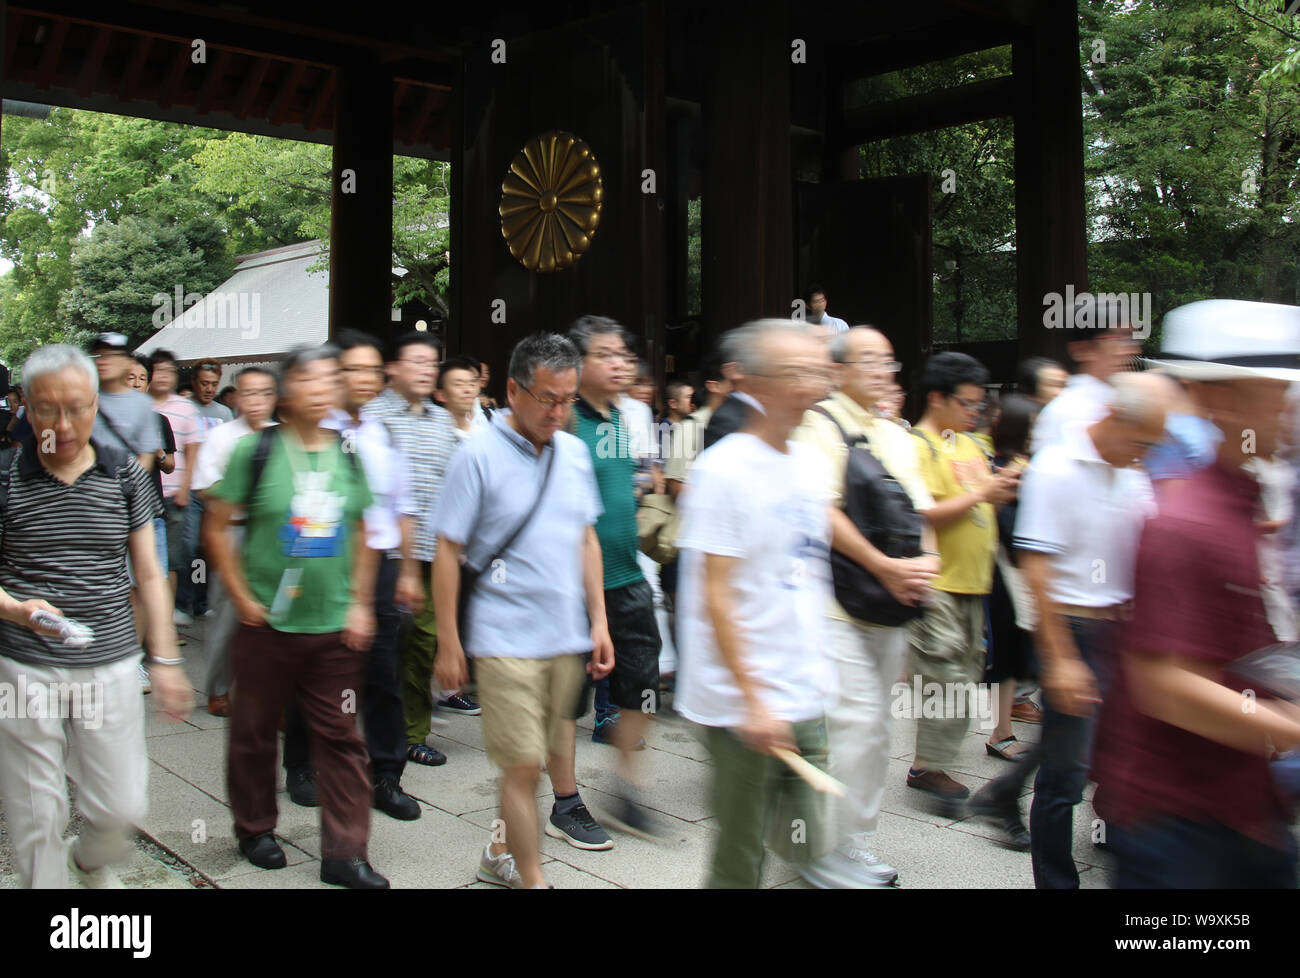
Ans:
<svg viewBox="0 0 1300 978"><path fill-rule="evenodd" d="M372 809L419 819L406 765L447 762L439 711L481 715L500 821L477 878L545 888L542 831L663 834L638 757L671 707L714 760L708 886L759 886L770 851L818 887L896 886L907 853L878 830L910 700L918 804L987 819L1039 887L1079 886L1089 779L1118 886L1295 886L1300 710L1251 653L1297 635L1296 310L1170 317L1140 362L1084 297L1072 373L1034 359L998 390L940 352L909 424L884 333L806 299L662 389L623 325L584 316L515 346L499 407L486 364L429 333L343 332L228 390L221 364L183 377L112 333L34 352L0 454L0 685L62 700L0 718L21 883L121 857L142 692L188 714L177 626L205 616L235 836L266 870L281 731L321 879L385 888ZM602 819L575 771L590 710L616 748ZM954 767L982 710L1008 765L972 795Z"/></svg>

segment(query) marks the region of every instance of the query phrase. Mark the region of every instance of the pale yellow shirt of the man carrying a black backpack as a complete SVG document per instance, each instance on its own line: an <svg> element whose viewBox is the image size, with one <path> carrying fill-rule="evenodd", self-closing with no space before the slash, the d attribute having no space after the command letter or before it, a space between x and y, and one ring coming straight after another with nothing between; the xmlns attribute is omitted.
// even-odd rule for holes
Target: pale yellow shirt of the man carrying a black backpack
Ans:
<svg viewBox="0 0 1300 978"><path fill-rule="evenodd" d="M907 434L907 432L893 421L871 414L857 401L838 390L818 404L818 407L824 407L829 411L850 436L866 434L871 454L898 481L898 485L907 493L911 505L916 510L928 510L935 505L930 489L926 488L926 480L922 476L916 459L915 438L913 436ZM829 459L827 493L831 497L831 502L842 509L844 469L849 462L849 446L844 443L844 436L835 427L835 421L819 411L809 411L803 415L803 423L794 429L790 440L812 445ZM859 626L867 628L880 627L850 618L840 606L840 602L835 600L833 594L831 596L827 614L841 622L857 622Z"/></svg>

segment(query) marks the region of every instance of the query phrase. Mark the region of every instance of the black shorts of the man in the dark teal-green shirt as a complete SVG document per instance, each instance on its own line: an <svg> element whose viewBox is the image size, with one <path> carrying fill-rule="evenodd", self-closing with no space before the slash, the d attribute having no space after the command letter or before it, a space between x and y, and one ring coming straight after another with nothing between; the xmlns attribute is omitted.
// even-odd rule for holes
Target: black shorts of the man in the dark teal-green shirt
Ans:
<svg viewBox="0 0 1300 978"><path fill-rule="evenodd" d="M659 711L659 624L654 616L654 592L640 580L604 592L604 616L614 641L614 671L610 701L624 710ZM592 681L588 680L575 707L575 718L586 714Z"/></svg>

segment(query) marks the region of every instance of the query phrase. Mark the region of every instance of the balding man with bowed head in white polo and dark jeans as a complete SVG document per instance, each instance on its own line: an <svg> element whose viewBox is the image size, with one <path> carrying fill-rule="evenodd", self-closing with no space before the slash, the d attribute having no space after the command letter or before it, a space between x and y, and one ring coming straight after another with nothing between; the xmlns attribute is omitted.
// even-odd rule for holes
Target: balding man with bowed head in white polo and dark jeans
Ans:
<svg viewBox="0 0 1300 978"><path fill-rule="evenodd" d="M1004 826L1013 815L1018 822L1015 797L1037 762L1030 851L1040 890L1079 886L1074 806L1088 780L1119 623L1132 613L1138 541L1156 514L1150 480L1134 463L1164 437L1165 391L1153 376L1122 373L1110 382L1106 415L1066 427L1020 481L1014 542L1039 613L1043 735L1034 758L985 786L970 805Z"/></svg>

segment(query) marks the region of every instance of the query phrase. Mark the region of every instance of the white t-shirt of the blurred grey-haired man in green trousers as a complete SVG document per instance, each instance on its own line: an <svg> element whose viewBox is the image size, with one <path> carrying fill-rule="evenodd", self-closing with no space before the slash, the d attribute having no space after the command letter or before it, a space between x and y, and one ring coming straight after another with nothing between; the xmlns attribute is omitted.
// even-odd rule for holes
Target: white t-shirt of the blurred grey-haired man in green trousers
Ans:
<svg viewBox="0 0 1300 978"><path fill-rule="evenodd" d="M736 433L703 451L679 497L680 662L675 707L736 727L745 701L718 652L705 598L705 554L738 558L732 575L741 655L763 705L790 723L823 715L832 693L822 653L831 594L829 463L810 445L781 454Z"/></svg>

